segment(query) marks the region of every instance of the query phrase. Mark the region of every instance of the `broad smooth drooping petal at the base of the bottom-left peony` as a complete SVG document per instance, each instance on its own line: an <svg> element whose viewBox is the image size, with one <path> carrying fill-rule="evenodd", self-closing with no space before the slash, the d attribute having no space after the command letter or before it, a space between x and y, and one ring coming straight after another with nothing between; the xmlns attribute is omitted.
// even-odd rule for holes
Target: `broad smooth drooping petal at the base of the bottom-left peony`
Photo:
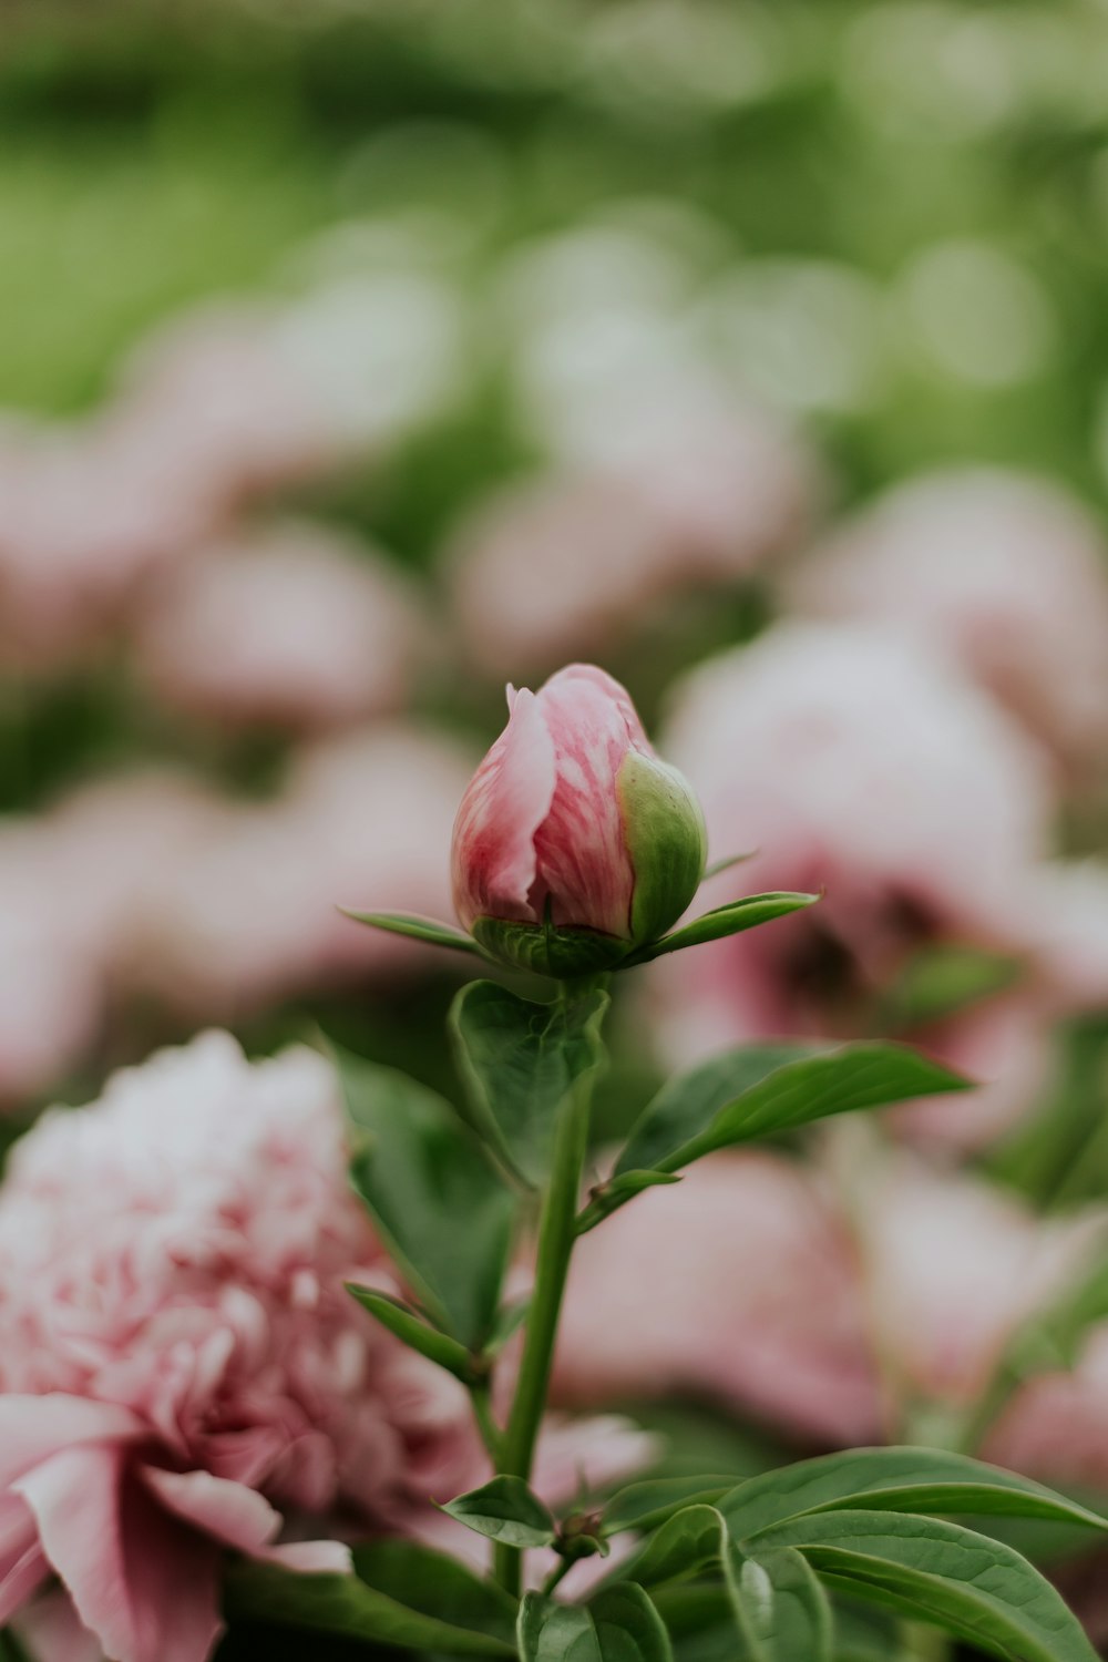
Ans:
<svg viewBox="0 0 1108 1662"><path fill-rule="evenodd" d="M219 1551L128 1476L125 1451L66 1449L15 1487L113 1662L208 1662L221 1632Z"/></svg>

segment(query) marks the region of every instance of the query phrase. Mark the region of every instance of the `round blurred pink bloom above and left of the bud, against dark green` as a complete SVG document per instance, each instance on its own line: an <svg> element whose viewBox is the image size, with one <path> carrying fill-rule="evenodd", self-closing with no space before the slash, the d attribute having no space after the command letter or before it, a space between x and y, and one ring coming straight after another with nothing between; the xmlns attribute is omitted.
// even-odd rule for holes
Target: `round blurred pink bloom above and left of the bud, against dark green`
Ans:
<svg viewBox="0 0 1108 1662"><path fill-rule="evenodd" d="M213 543L135 620L140 673L168 705L294 731L404 705L422 647L399 568L309 524Z"/></svg>

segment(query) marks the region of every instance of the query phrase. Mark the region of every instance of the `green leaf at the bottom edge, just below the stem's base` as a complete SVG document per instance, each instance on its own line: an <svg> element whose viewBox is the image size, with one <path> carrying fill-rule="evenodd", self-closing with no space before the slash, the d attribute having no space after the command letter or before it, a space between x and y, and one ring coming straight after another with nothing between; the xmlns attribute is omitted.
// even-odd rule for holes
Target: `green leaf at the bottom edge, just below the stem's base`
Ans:
<svg viewBox="0 0 1108 1662"><path fill-rule="evenodd" d="M522 1662L673 1662L669 1635L641 1587L605 1587L588 1604L528 1592L520 1605Z"/></svg>

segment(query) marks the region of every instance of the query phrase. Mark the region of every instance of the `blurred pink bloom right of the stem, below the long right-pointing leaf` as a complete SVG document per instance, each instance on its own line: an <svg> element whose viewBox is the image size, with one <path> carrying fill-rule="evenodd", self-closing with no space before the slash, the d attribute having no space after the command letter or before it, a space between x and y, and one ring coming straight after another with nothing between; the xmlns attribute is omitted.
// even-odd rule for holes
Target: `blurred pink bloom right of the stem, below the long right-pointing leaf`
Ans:
<svg viewBox="0 0 1108 1662"><path fill-rule="evenodd" d="M561 1401L709 1396L801 1436L879 1436L849 1232L802 1167L718 1155L640 1195L575 1256Z"/></svg>

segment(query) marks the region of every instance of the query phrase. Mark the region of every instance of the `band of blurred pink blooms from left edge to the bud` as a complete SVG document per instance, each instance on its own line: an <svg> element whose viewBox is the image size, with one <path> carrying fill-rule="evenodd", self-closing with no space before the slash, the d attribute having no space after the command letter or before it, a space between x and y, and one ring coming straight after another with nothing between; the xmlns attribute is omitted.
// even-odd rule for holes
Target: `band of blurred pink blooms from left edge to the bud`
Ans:
<svg viewBox="0 0 1108 1662"><path fill-rule="evenodd" d="M0 1102L50 1087L136 999L231 1020L419 962L336 902L450 904L468 758L382 725L306 746L267 803L194 778L106 779L0 829Z"/></svg>

